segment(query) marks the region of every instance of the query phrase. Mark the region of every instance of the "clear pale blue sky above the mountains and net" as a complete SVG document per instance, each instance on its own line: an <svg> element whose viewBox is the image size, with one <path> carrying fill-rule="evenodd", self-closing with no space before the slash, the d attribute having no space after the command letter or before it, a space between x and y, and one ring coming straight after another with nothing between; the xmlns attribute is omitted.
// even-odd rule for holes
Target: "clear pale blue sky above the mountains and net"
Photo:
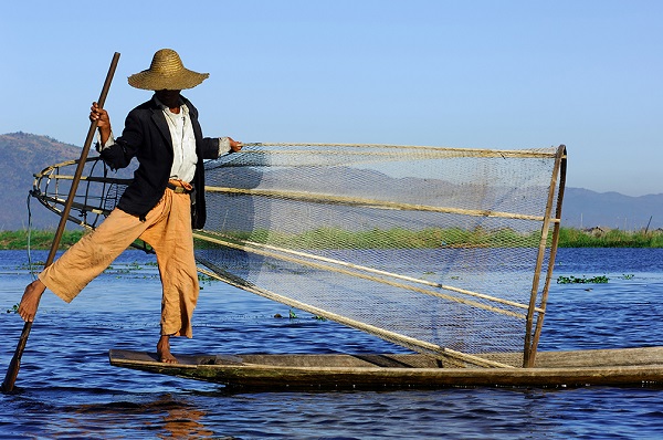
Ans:
<svg viewBox="0 0 663 440"><path fill-rule="evenodd" d="M206 136L522 149L564 144L567 186L663 193L663 1L2 2L0 134L82 146L115 52L115 130L162 48Z"/></svg>

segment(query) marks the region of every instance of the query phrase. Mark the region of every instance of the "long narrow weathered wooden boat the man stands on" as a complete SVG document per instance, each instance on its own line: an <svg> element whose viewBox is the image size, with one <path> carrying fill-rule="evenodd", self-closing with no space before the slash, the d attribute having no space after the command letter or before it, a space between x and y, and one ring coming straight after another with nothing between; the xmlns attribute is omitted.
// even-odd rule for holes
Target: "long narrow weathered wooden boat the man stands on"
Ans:
<svg viewBox="0 0 663 440"><path fill-rule="evenodd" d="M504 355L495 357L504 359ZM514 366L520 358L514 354ZM164 364L152 353L113 349L109 359L117 367L218 383L240 390L663 384L663 347L539 352L533 368L446 368L435 357L422 354L180 355L179 364Z"/></svg>

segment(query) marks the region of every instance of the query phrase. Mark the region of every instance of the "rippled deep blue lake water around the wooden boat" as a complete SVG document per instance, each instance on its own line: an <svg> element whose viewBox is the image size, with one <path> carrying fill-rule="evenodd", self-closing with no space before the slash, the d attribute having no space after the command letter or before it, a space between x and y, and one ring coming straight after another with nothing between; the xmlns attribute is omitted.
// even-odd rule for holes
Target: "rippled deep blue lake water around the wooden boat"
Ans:
<svg viewBox="0 0 663 440"><path fill-rule="evenodd" d="M45 252L32 252L34 261ZM0 251L2 378L32 277L25 251ZM663 389L449 388L434 391L229 392L222 386L112 367L110 348L154 350L160 284L154 258L126 252L73 303L44 294L15 392L0 395L0 438L561 439L661 438ZM663 250L561 249L539 348L663 345ZM179 353L389 353L370 335L203 282L193 339Z"/></svg>

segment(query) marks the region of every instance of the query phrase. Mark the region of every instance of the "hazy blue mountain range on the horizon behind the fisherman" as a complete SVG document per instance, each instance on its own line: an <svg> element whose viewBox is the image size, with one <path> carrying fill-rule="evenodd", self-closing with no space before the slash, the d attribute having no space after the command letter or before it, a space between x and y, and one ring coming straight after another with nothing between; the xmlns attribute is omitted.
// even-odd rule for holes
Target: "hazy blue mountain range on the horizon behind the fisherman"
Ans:
<svg viewBox="0 0 663 440"><path fill-rule="evenodd" d="M81 147L49 136L28 133L0 135L0 174L7 184L0 191L0 231L32 228L55 229L60 218L29 197L33 175L64 160L76 159ZM30 205L28 205L30 203ZM622 230L663 228L663 193L640 197L566 188L562 226ZM75 227L72 227L75 228Z"/></svg>

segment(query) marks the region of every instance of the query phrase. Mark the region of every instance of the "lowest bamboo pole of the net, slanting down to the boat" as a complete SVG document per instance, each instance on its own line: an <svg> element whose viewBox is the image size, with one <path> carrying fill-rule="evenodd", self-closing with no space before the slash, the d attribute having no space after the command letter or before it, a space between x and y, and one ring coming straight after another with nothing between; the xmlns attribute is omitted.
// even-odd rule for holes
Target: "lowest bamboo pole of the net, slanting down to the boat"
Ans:
<svg viewBox="0 0 663 440"><path fill-rule="evenodd" d="M212 269L212 268L210 268ZM199 269L200 270L200 269ZM476 365L480 367L491 367L491 368L514 368L514 366L508 365L508 364L502 364L502 363L497 363L494 360L488 360L488 359L484 359L482 357L478 356L474 356L474 355L470 355L466 353L462 353L462 352L456 352L450 348L445 348L445 347L441 347L439 345L435 344L431 344L431 343L427 343L424 341L419 341L417 338L410 337L410 336L406 336L406 335L401 335L399 333L396 332L390 332L390 331L386 331L383 328L380 327L376 327L372 326L370 324L365 324L361 323L359 321L355 321L351 318L348 318L346 316L341 316L341 315L337 315L335 313L325 311L323 308L318 308L318 307L314 307L312 305L305 304L305 303L301 303L296 300L292 300L282 295L278 295L277 293L264 290L264 289L259 289L257 286L254 286L252 284L248 284L248 283L239 283L232 279L222 276L221 274L219 274L218 272L222 272L221 270L219 270L218 268L215 270L212 271L204 271L203 273L208 276L212 276L217 280L223 281L228 284L231 284L235 287L245 290L248 292L251 293L255 293L260 296L266 297L269 300L272 301L276 301L278 303L283 303L285 305L288 305L291 307L295 307L295 308L299 308L303 310L305 312L312 313L314 315L318 315L318 316L323 316L326 317L328 319L332 319L334 322L337 322L339 324L344 324L367 333L370 333L372 335L379 336L386 341L390 341L390 342L399 342L401 344L404 345L409 345L409 346L414 346L414 347L419 347L422 348L427 352L430 353L435 353L438 355L442 355L442 356L448 356L457 360L462 360L465 362L467 364L472 364L472 365Z"/></svg>

